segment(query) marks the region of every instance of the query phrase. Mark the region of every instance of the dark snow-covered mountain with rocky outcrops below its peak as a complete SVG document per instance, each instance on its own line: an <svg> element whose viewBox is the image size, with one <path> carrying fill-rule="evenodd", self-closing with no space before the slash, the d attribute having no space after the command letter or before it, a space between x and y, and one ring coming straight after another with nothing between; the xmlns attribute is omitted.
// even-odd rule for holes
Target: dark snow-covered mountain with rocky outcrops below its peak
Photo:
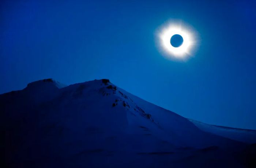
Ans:
<svg viewBox="0 0 256 168"><path fill-rule="evenodd" d="M35 81L0 95L7 167L246 167L240 138L140 99L108 79ZM219 129L218 129L219 130ZM216 133L217 132L217 133ZM248 164L249 163L249 164Z"/></svg>

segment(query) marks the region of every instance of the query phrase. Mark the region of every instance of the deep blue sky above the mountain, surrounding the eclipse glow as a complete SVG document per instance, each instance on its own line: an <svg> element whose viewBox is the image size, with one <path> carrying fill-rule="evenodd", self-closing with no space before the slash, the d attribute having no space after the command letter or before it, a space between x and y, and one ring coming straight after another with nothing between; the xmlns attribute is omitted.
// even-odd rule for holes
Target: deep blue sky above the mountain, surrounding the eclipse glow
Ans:
<svg viewBox="0 0 256 168"><path fill-rule="evenodd" d="M54 78L108 78L184 117L256 129L253 1L1 1L0 93ZM192 25L201 42L186 62L165 59L155 31Z"/></svg>

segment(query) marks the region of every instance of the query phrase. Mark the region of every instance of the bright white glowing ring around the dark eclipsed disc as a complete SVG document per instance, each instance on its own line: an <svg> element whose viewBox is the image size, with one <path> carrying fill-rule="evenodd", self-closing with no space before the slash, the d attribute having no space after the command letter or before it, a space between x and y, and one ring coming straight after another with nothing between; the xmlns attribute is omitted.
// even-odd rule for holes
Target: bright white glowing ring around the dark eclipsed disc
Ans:
<svg viewBox="0 0 256 168"><path fill-rule="evenodd" d="M173 47L170 39L173 35L181 35L183 43L180 47ZM157 32L159 49L167 58L187 59L195 51L197 40L196 33L189 26L170 21L163 25Z"/></svg>

